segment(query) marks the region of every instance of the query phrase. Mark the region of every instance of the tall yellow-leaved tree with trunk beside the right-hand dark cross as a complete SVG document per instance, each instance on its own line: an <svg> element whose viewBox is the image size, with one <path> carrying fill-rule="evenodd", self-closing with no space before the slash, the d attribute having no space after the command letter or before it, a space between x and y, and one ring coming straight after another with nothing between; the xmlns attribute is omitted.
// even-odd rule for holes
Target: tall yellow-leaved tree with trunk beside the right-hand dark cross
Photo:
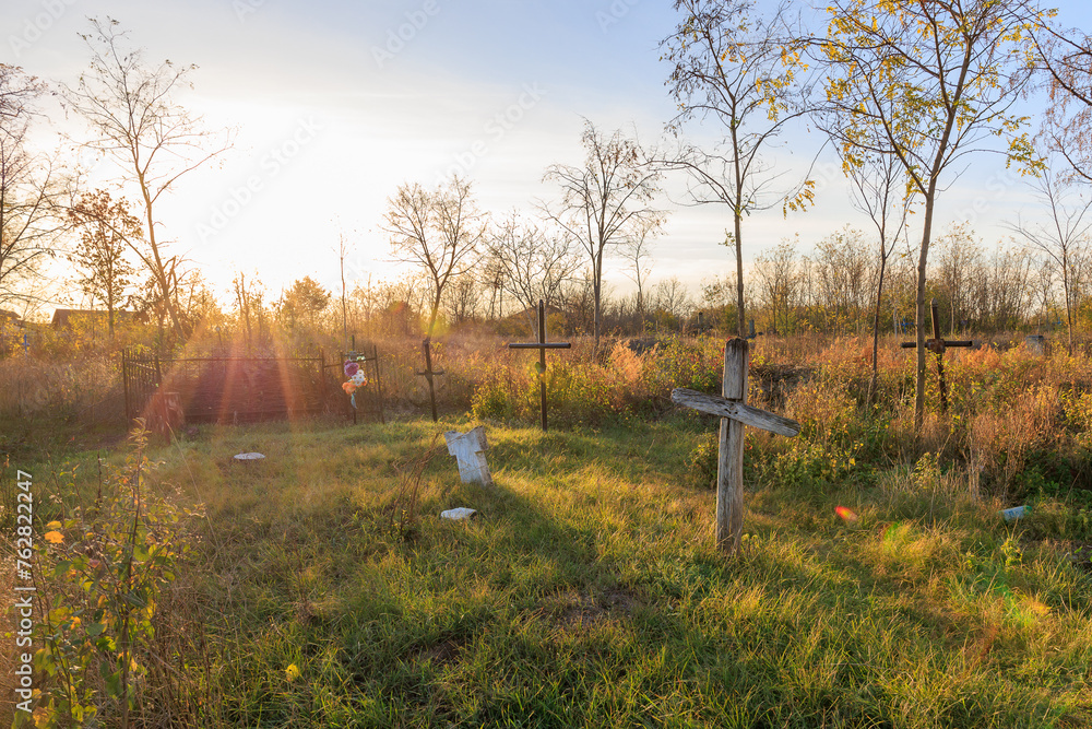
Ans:
<svg viewBox="0 0 1092 729"><path fill-rule="evenodd" d="M1012 111L1032 69L1032 32L1048 15L1030 0L832 0L819 48L827 70L827 113L841 129L846 166L893 156L907 196L924 204L917 261L917 392L914 423L925 418L925 282L939 191L957 163L985 141L1006 140L1009 163L1037 173ZM997 151L996 149L994 151Z"/></svg>

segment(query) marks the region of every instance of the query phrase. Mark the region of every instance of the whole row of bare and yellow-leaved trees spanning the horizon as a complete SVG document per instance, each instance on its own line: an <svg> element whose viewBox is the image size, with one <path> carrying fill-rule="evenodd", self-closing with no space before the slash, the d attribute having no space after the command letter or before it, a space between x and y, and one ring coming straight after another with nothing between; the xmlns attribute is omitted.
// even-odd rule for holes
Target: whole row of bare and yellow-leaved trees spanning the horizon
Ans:
<svg viewBox="0 0 1092 729"><path fill-rule="evenodd" d="M800 25L794 2L772 12L750 0L678 0L675 8L677 25L660 52L678 111L655 143L586 121L583 158L542 171L550 191L530 216L480 210L471 181L458 175L434 188L406 181L387 200L378 228L411 269L407 278L346 280L343 242L340 291L300 279L274 295L239 273L229 304L166 237L158 202L229 149L230 131L204 129L176 103L192 67L150 64L115 21L92 20L90 62L73 85L0 63L0 306L40 301L55 283L47 261L63 257L78 287L108 310L111 336L115 311L133 307L167 349L201 332L251 350L320 333L432 336L476 322L503 332L521 318L530 324L538 299L557 320L554 331L587 332L596 348L612 331L746 334L755 320L770 332L836 334L912 321L922 345L918 425L930 297L941 301L949 331L1064 321L1071 345L1085 307L1092 225L1092 142L1082 133L1092 115L1092 72L1082 61L1092 36L1032 0L835 0L824 33ZM86 124L78 146L111 160L112 188L132 191L134 202L82 189L82 171L31 143L39 105L54 94ZM1037 130L1013 111L1021 94L1051 101ZM845 228L814 249L786 240L745 267L745 249L753 252L748 216L816 204L817 180L778 168L769 154L805 124L836 151L853 202L875 231ZM696 144L688 139L696 127L722 134ZM966 160L987 151L1037 180L1034 214L1044 221L1008 221L1016 243L996 250L970 227L945 232L935 220ZM734 270L700 292L675 279L650 285L668 175L686 186L684 204L712 204L732 221L724 245ZM612 295L614 282L604 278L612 259L624 261L634 294Z"/></svg>

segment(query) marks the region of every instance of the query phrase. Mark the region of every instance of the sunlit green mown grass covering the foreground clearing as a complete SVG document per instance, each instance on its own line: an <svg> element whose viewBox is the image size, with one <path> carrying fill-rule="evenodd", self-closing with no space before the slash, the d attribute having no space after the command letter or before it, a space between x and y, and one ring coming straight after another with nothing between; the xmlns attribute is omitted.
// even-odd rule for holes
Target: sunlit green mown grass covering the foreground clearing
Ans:
<svg viewBox="0 0 1092 729"><path fill-rule="evenodd" d="M202 626L192 722L1092 726L1092 578L1068 556L1092 533L1061 502L1006 525L935 468L819 491L756 467L726 560L688 475L708 428L679 419L490 424L496 485L441 449L405 514L396 463L472 424L207 427L153 454L206 510L163 607ZM94 455L32 466L76 463L43 519L93 498Z"/></svg>

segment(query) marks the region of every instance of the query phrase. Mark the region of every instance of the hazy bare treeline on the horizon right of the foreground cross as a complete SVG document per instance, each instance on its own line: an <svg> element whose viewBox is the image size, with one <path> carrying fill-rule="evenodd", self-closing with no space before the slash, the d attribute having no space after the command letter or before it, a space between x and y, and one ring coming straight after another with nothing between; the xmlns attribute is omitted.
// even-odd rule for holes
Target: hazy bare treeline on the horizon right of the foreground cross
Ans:
<svg viewBox="0 0 1092 729"><path fill-rule="evenodd" d="M1011 242L987 246L962 223L937 237L934 252L926 297L937 302L946 333L1064 327L1067 301L1075 322L1092 314L1092 257L1083 248L1069 257L1063 275L1042 251ZM879 306L881 331L913 331L916 266L910 247L894 249ZM751 310L771 333L865 334L877 315L879 269L875 242L850 226L817 242L811 252L802 251L798 238L786 238L755 262Z"/></svg>

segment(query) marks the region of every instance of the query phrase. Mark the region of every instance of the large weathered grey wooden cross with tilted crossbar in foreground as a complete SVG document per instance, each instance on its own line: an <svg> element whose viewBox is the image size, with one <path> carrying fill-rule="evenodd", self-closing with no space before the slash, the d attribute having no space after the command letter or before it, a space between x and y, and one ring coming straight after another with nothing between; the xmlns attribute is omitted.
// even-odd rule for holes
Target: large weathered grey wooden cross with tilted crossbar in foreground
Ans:
<svg viewBox="0 0 1092 729"><path fill-rule="evenodd" d="M721 444L716 459L716 545L734 554L739 549L744 526L744 425L793 437L800 432L794 420L774 415L747 404L747 369L750 366L746 339L724 345L723 397L678 388L672 401L721 418Z"/></svg>

